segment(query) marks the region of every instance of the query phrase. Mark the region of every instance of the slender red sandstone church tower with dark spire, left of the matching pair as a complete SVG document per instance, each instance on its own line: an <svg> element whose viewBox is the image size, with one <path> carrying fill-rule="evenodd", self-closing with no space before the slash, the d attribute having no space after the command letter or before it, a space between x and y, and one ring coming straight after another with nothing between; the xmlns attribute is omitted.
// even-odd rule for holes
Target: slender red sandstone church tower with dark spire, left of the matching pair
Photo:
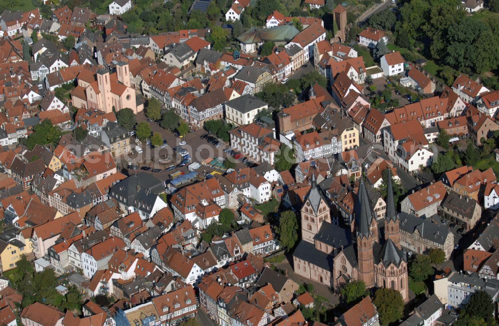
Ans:
<svg viewBox="0 0 499 326"><path fill-rule="evenodd" d="M374 286L373 246L378 242L378 224L371 209L364 178L360 180L354 215L357 227L359 281L364 281L367 288L372 288Z"/></svg>

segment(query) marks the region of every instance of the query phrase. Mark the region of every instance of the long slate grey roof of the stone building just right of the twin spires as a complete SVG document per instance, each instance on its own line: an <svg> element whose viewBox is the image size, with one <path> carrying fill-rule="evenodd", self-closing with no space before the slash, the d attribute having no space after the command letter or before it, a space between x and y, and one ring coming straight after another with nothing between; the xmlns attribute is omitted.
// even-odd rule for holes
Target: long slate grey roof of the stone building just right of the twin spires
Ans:
<svg viewBox="0 0 499 326"><path fill-rule="evenodd" d="M432 223L430 219L423 219L404 212L399 213L401 230L413 234L416 230L423 239L443 245L449 234L449 228L442 224Z"/></svg>

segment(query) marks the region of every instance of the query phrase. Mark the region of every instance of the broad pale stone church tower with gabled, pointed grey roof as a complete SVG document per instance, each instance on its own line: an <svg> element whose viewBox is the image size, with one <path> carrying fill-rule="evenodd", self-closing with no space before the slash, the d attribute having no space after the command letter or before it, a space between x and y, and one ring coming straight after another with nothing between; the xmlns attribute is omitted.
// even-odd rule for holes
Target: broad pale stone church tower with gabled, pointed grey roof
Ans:
<svg viewBox="0 0 499 326"><path fill-rule="evenodd" d="M315 174L312 173L311 188L301 207L301 238L314 244L313 238L319 232L322 223L331 223L330 208L322 192L317 187Z"/></svg>

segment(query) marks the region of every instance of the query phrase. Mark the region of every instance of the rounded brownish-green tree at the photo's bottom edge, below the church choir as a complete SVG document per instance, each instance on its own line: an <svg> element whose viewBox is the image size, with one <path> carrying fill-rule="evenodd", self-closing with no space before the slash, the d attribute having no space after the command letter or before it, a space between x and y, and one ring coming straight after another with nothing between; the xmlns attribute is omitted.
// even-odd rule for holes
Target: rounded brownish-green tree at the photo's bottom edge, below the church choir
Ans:
<svg viewBox="0 0 499 326"><path fill-rule="evenodd" d="M380 325L386 326L402 318L404 299L397 290L378 289L374 295L374 305L378 309Z"/></svg>

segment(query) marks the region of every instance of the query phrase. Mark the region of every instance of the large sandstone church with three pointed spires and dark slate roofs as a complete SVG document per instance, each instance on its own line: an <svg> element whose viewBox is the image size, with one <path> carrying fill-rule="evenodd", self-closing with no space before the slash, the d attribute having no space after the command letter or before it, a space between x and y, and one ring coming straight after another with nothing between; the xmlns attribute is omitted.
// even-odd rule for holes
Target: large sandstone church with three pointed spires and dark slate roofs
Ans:
<svg viewBox="0 0 499 326"><path fill-rule="evenodd" d="M328 201L312 175L311 188L301 208L301 241L293 253L296 274L335 291L345 283L364 281L368 289L394 289L405 302L409 300L407 258L400 250L399 216L389 170L388 173L382 240L364 178L360 181L354 206L352 235L349 229L331 223Z"/></svg>

